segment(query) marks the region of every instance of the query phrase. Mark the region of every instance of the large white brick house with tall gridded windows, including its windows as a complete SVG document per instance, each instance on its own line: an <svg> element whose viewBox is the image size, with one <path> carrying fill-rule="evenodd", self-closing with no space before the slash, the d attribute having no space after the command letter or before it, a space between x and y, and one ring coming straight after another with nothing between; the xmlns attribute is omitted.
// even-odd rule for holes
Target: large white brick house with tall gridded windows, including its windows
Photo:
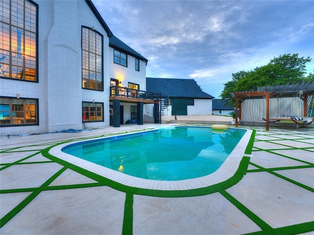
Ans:
<svg viewBox="0 0 314 235"><path fill-rule="evenodd" d="M1 135L108 127L111 78L145 90L147 60L109 46L116 38L90 0L1 0L0 10ZM127 66L114 61L121 45Z"/></svg>

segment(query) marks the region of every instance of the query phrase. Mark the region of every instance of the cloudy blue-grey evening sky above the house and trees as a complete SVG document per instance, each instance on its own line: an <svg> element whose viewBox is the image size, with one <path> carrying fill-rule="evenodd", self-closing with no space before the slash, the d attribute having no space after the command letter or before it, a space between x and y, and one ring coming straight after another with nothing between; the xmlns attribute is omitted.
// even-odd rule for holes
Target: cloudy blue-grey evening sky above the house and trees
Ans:
<svg viewBox="0 0 314 235"><path fill-rule="evenodd" d="M112 33L146 59L146 77L195 79L219 98L232 74L274 57L312 58L312 0L92 0Z"/></svg>

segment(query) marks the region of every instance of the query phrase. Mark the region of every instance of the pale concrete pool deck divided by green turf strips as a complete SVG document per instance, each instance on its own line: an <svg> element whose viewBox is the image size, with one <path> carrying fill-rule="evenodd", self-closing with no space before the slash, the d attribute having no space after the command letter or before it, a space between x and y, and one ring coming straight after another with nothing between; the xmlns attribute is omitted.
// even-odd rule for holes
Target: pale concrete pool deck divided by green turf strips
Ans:
<svg viewBox="0 0 314 235"><path fill-rule="evenodd" d="M239 126L255 139L235 178L179 195L124 186L49 154L69 140L158 126L1 136L0 233L314 234L313 128Z"/></svg>

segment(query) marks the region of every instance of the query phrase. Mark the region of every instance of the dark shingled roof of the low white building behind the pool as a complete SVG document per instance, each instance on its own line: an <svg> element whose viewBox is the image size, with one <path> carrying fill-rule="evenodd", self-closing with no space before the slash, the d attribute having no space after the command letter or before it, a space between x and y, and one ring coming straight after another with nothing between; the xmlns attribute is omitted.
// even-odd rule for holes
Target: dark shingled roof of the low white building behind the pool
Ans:
<svg viewBox="0 0 314 235"><path fill-rule="evenodd" d="M146 78L146 91L162 92L169 98L213 99L194 79Z"/></svg>

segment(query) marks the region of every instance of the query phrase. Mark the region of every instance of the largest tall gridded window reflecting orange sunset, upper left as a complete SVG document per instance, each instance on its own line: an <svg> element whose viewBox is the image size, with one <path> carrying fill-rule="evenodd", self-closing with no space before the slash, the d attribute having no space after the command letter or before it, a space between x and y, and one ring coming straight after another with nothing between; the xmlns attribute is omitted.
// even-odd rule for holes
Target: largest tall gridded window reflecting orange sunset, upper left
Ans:
<svg viewBox="0 0 314 235"><path fill-rule="evenodd" d="M1 0L0 9L0 77L38 81L37 5Z"/></svg>

